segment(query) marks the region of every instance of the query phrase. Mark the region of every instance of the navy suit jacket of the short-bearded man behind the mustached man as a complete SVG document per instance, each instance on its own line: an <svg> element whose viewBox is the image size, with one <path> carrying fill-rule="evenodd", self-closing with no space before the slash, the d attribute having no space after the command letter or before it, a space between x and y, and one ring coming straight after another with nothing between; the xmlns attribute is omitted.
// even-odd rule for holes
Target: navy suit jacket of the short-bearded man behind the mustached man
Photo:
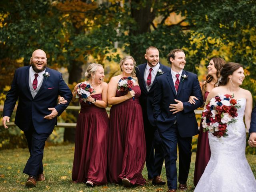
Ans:
<svg viewBox="0 0 256 192"><path fill-rule="evenodd" d="M160 64L159 69L161 69L162 72L164 72L164 74L168 73L171 70L171 68L166 67L166 66L162 65L161 63L159 63L159 64ZM162 74L159 74L159 73L156 74L153 84L148 92L147 88L146 88L146 82L144 80L144 73L145 73L146 66L147 66L147 63L144 63L144 64L139 65L136 68L136 75L138 77L140 90L141 90L140 104L142 106L143 114L147 114L150 124L152 126L155 126L152 104L153 104L154 90L156 88L156 78L158 76L161 76Z"/></svg>

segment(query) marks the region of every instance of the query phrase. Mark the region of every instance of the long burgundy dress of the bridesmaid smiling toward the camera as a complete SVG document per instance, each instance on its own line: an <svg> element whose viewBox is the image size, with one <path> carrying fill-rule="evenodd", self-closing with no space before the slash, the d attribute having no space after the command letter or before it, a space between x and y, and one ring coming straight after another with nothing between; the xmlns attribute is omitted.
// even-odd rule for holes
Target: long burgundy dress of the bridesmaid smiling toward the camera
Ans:
<svg viewBox="0 0 256 192"><path fill-rule="evenodd" d="M139 102L140 87L134 86L135 100L132 98L113 105L110 110L108 171L111 183L120 183L123 178L131 184L144 185L142 176L146 160L142 108ZM128 91L117 91L123 96Z"/></svg>

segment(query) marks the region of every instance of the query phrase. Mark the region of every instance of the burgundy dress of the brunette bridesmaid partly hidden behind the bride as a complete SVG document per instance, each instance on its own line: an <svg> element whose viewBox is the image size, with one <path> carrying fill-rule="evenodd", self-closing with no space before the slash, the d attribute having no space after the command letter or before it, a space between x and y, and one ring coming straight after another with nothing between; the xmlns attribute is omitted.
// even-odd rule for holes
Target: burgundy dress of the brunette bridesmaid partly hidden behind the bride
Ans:
<svg viewBox="0 0 256 192"><path fill-rule="evenodd" d="M208 96L209 92L205 92L204 100ZM204 169L208 164L208 161L211 157L211 150L208 140L208 131L204 132L202 127L202 119L200 122L199 128L199 136L197 141L197 148L196 148L196 162L195 162L195 172L194 172L194 186L197 185L198 181L200 180L202 174L204 173Z"/></svg>

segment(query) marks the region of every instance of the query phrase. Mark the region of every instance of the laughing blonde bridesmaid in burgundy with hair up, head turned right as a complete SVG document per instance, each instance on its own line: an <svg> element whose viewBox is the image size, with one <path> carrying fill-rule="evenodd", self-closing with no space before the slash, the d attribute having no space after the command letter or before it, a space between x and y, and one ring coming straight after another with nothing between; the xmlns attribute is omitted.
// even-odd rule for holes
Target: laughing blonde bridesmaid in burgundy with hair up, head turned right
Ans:
<svg viewBox="0 0 256 192"><path fill-rule="evenodd" d="M96 92L87 102L79 98L81 110L76 124L72 180L94 186L107 183L108 114L105 108L108 84L102 81L104 69L100 64L90 64L85 77ZM73 100L79 84L73 90Z"/></svg>

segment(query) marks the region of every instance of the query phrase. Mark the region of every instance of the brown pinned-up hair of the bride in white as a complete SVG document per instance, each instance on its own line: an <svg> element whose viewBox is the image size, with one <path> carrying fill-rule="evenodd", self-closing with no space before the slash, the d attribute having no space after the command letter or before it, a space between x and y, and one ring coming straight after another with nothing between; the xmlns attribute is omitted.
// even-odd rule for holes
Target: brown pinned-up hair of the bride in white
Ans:
<svg viewBox="0 0 256 192"><path fill-rule="evenodd" d="M238 70L240 67L243 67L240 63L228 62L224 65L222 70L220 71L220 75L222 76L222 80L220 85L226 85L228 83L228 76L232 75L234 71Z"/></svg>

